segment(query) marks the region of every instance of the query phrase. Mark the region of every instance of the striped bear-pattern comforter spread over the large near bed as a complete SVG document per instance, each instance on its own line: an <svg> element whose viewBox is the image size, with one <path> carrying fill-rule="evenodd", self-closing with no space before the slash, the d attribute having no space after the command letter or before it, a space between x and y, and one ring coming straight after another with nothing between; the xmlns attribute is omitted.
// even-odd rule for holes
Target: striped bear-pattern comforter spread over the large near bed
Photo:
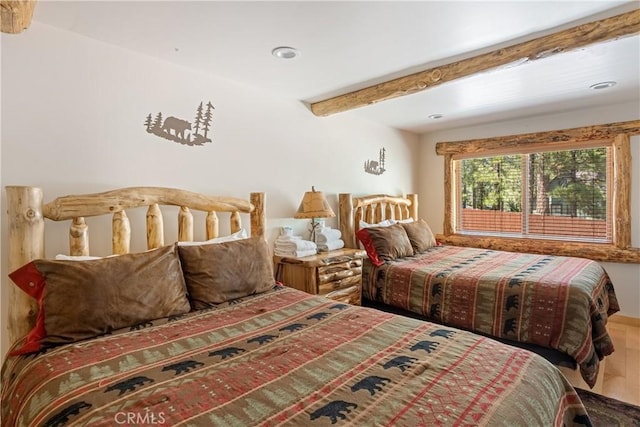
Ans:
<svg viewBox="0 0 640 427"><path fill-rule="evenodd" d="M3 426L589 421L538 355L294 289L140 326L8 358Z"/></svg>

